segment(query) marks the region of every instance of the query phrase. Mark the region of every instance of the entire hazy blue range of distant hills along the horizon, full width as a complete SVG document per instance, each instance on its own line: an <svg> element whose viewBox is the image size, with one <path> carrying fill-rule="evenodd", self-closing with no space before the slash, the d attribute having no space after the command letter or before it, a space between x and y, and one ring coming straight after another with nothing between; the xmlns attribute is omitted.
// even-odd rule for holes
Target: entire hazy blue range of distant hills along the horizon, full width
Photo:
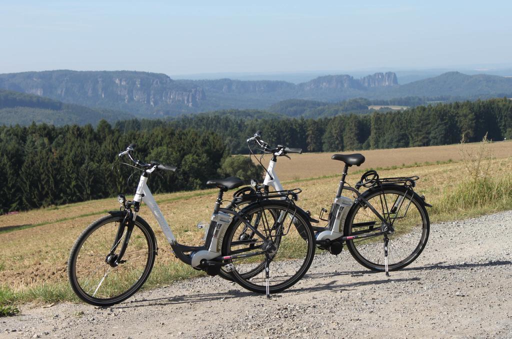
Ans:
<svg viewBox="0 0 512 339"><path fill-rule="evenodd" d="M133 112L141 118L157 118L215 110L268 109L290 99L330 105L353 98L509 96L512 78L449 72L400 85L396 74L388 72L361 78L327 75L294 84L270 80L173 80L158 73L61 70L0 74L0 88L93 108ZM297 114L290 113L287 115Z"/></svg>

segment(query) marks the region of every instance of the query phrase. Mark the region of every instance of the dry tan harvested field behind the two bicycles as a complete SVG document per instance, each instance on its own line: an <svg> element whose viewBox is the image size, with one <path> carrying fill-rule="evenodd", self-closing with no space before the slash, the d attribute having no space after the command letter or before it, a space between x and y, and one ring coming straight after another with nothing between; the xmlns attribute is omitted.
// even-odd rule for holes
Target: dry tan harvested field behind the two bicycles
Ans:
<svg viewBox="0 0 512 339"><path fill-rule="evenodd" d="M509 156L510 150L505 146L512 143L493 143L490 146L497 157ZM468 145L472 146L472 145ZM426 150L432 152L426 152ZM420 152L420 156L415 155ZM367 151L370 166L375 165L374 158L380 156L379 166L400 166L401 163L420 161L434 162L448 160L450 156L456 160L459 155L457 146L423 147L422 149L403 149L387 151ZM395 154L396 153L396 154ZM397 154L402 154L398 156ZM405 155L409 154L409 157ZM416 158L415 158L416 157ZM437 157L437 158L436 158ZM318 165L317 159L326 158L326 164ZM399 159L399 160L398 160ZM405 160L404 159L408 159ZM415 160L417 159L417 160ZM281 158L280 161L288 161ZM298 204L309 209L313 217L318 217L321 207L328 208L336 192L341 163L330 160L326 154L305 154L294 156L294 165L281 165L278 173L290 177L290 169L294 168L296 179L284 181L288 188L301 187L303 193ZM302 162L309 166L316 164L316 171L311 172ZM373 163L373 165L372 165ZM364 166L361 166L364 167ZM512 168L512 158L495 159L489 168L493 178L509 177ZM351 167L348 182L355 183L364 168ZM335 175L330 175L333 171ZM354 174L354 172L358 172ZM419 175L416 191L426 196L426 201L435 207L429 210L431 221L454 220L477 216L497 210L510 209L505 203L497 200L492 205L481 207L468 206L457 210L443 210L441 207L446 194L453 192L460 182L465 180L465 169L460 162L417 165L405 168L394 168L379 171L383 176ZM316 178L308 178L316 177ZM154 178L153 180L158 180ZM151 182L150 182L151 187ZM181 192L163 194L156 197L162 212L172 225L173 231L180 242L197 244L202 232L195 225L202 220L208 220L214 205L217 190L201 190L196 192ZM228 196L227 196L228 197ZM508 200L503 200L504 202ZM32 210L17 215L0 216L0 304L7 300L73 300L66 276L66 262L69 250L80 232L91 222L104 215L107 210L115 210L118 203L115 198L89 201L78 204ZM172 256L162 231L147 208L141 209L141 216L154 227L160 247L154 271L146 287L157 286L175 279L182 279L200 274L188 266L181 264ZM1 285L1 284L0 284Z"/></svg>

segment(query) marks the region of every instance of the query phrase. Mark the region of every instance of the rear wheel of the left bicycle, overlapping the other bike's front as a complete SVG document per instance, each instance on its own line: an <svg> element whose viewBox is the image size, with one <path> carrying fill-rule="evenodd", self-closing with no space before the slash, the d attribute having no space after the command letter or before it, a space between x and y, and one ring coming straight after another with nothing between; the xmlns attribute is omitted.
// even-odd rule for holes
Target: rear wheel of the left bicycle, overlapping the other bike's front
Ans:
<svg viewBox="0 0 512 339"><path fill-rule="evenodd" d="M255 234L241 220L229 226L223 242L223 256L233 256L231 276L242 287L266 293L293 286L307 272L315 247L311 224L285 201L262 201L245 207L244 220L262 235ZM266 248L271 244L271 249Z"/></svg>

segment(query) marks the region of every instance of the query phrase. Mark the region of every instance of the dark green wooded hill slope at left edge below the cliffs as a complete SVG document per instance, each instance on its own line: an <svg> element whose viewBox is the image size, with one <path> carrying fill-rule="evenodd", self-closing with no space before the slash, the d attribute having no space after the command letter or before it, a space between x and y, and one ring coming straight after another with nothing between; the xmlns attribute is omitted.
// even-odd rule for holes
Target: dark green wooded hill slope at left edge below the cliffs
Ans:
<svg viewBox="0 0 512 339"><path fill-rule="evenodd" d="M101 119L114 122L133 117L124 112L90 109L38 95L0 90L0 125L28 125L32 122L96 125Z"/></svg>

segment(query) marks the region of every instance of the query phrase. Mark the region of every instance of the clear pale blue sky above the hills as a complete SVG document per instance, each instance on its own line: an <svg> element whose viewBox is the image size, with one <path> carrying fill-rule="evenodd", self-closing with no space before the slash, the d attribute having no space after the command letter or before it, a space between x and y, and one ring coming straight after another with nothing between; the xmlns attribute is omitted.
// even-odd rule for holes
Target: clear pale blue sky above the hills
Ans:
<svg viewBox="0 0 512 339"><path fill-rule="evenodd" d="M4 1L0 73L509 67L510 1Z"/></svg>

